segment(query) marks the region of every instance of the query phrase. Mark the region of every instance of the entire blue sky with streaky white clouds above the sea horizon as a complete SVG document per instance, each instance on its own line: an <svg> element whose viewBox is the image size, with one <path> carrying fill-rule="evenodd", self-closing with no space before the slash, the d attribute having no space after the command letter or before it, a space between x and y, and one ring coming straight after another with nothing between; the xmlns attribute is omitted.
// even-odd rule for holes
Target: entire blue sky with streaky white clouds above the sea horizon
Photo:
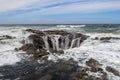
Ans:
<svg viewBox="0 0 120 80"><path fill-rule="evenodd" d="M120 0L0 0L0 24L120 24Z"/></svg>

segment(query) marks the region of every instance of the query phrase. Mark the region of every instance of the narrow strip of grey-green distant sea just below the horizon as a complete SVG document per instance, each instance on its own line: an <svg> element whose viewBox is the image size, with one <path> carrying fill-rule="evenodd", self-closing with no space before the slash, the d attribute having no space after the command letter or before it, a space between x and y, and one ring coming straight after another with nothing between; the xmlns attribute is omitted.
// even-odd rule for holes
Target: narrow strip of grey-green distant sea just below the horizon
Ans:
<svg viewBox="0 0 120 80"><path fill-rule="evenodd" d="M120 33L120 24L86 24L86 25L0 25L0 30L2 29L38 29L38 30L67 30L72 32L81 33Z"/></svg>

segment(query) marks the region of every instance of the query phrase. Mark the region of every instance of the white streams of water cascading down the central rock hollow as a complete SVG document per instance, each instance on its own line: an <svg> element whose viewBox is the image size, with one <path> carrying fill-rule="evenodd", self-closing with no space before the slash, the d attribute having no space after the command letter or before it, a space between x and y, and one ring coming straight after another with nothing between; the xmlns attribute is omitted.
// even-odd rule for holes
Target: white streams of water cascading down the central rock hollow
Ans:
<svg viewBox="0 0 120 80"><path fill-rule="evenodd" d="M45 48L48 50L51 49L50 45L52 46L53 50L60 50L60 49L65 50L65 49L70 49L74 47L79 47L80 41L81 41L81 38L75 38L75 35L73 35L72 39L69 38L69 35L67 36L46 35L46 36L43 36L42 38L45 44ZM50 42L52 42L52 44Z"/></svg>

